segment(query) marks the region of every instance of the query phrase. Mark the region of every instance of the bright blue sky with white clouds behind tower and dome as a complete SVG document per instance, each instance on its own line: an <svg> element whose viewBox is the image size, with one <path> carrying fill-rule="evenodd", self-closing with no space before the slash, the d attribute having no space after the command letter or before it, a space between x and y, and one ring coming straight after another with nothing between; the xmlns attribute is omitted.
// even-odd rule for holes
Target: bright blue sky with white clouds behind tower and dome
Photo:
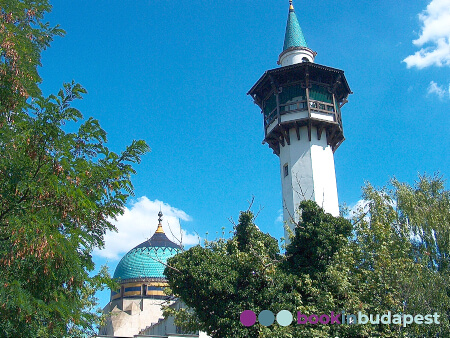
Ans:
<svg viewBox="0 0 450 338"><path fill-rule="evenodd" d="M315 62L342 69L353 94L335 152L339 202L361 187L418 174L450 178L450 0L294 0ZM246 95L277 68L288 0L54 1L46 19L65 31L43 53L44 94L75 80L75 106L93 116L117 152L143 139L135 196L117 233L94 252L110 272L163 226L187 247L229 235L241 210L283 236L279 161ZM448 183L447 183L448 186ZM99 293L106 305L109 292Z"/></svg>

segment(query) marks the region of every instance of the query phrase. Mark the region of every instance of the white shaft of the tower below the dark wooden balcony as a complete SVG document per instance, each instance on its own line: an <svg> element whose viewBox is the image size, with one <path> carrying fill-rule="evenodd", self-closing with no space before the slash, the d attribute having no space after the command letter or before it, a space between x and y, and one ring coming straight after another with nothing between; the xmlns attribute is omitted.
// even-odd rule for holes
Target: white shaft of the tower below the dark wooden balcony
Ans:
<svg viewBox="0 0 450 338"><path fill-rule="evenodd" d="M320 140L311 127L311 141L307 127L300 128L300 140L294 129L289 131L290 145L280 146L280 171L283 197L283 219L291 230L299 219L298 206L302 200L313 200L326 212L339 215L339 203L334 169L334 156L327 144L325 130ZM285 166L288 175L285 176ZM287 233L285 238L288 240Z"/></svg>

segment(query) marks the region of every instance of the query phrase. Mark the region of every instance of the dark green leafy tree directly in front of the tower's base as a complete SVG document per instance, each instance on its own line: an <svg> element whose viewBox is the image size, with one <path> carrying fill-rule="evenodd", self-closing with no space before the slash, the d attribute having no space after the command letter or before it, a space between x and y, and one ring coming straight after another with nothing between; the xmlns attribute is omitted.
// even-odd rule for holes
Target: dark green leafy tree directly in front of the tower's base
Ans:
<svg viewBox="0 0 450 338"><path fill-rule="evenodd" d="M299 213L281 266L297 281L293 292L299 295L301 304L294 311L307 316L355 312L360 301L350 282L346 255L352 224L324 212L313 201L301 202ZM342 322L341 317L339 320ZM294 337L361 336L362 327L342 324L294 325L290 329Z"/></svg>

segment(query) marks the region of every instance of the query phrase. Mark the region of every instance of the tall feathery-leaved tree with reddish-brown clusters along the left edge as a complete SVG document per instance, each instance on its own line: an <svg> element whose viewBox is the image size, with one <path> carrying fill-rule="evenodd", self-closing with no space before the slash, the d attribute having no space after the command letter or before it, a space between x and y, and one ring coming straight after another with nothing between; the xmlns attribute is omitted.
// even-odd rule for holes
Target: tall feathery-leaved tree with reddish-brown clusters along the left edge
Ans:
<svg viewBox="0 0 450 338"><path fill-rule="evenodd" d="M58 27L43 23L48 1L6 1L0 50L0 336L79 337L99 322L91 252L132 194L133 164L149 148L133 141L117 154L99 122L74 107L85 89L38 88L40 53ZM78 131L67 133L66 122Z"/></svg>

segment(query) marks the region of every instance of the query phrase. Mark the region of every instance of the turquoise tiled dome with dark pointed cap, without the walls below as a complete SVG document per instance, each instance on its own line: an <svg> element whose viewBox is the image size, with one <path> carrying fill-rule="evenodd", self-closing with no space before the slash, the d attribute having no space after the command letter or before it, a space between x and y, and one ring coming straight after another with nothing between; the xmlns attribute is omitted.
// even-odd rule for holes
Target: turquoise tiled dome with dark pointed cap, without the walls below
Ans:
<svg viewBox="0 0 450 338"><path fill-rule="evenodd" d="M158 226L149 240L131 249L117 265L114 278L120 280L137 278L164 278L167 259L180 252L181 247L172 241Z"/></svg>

